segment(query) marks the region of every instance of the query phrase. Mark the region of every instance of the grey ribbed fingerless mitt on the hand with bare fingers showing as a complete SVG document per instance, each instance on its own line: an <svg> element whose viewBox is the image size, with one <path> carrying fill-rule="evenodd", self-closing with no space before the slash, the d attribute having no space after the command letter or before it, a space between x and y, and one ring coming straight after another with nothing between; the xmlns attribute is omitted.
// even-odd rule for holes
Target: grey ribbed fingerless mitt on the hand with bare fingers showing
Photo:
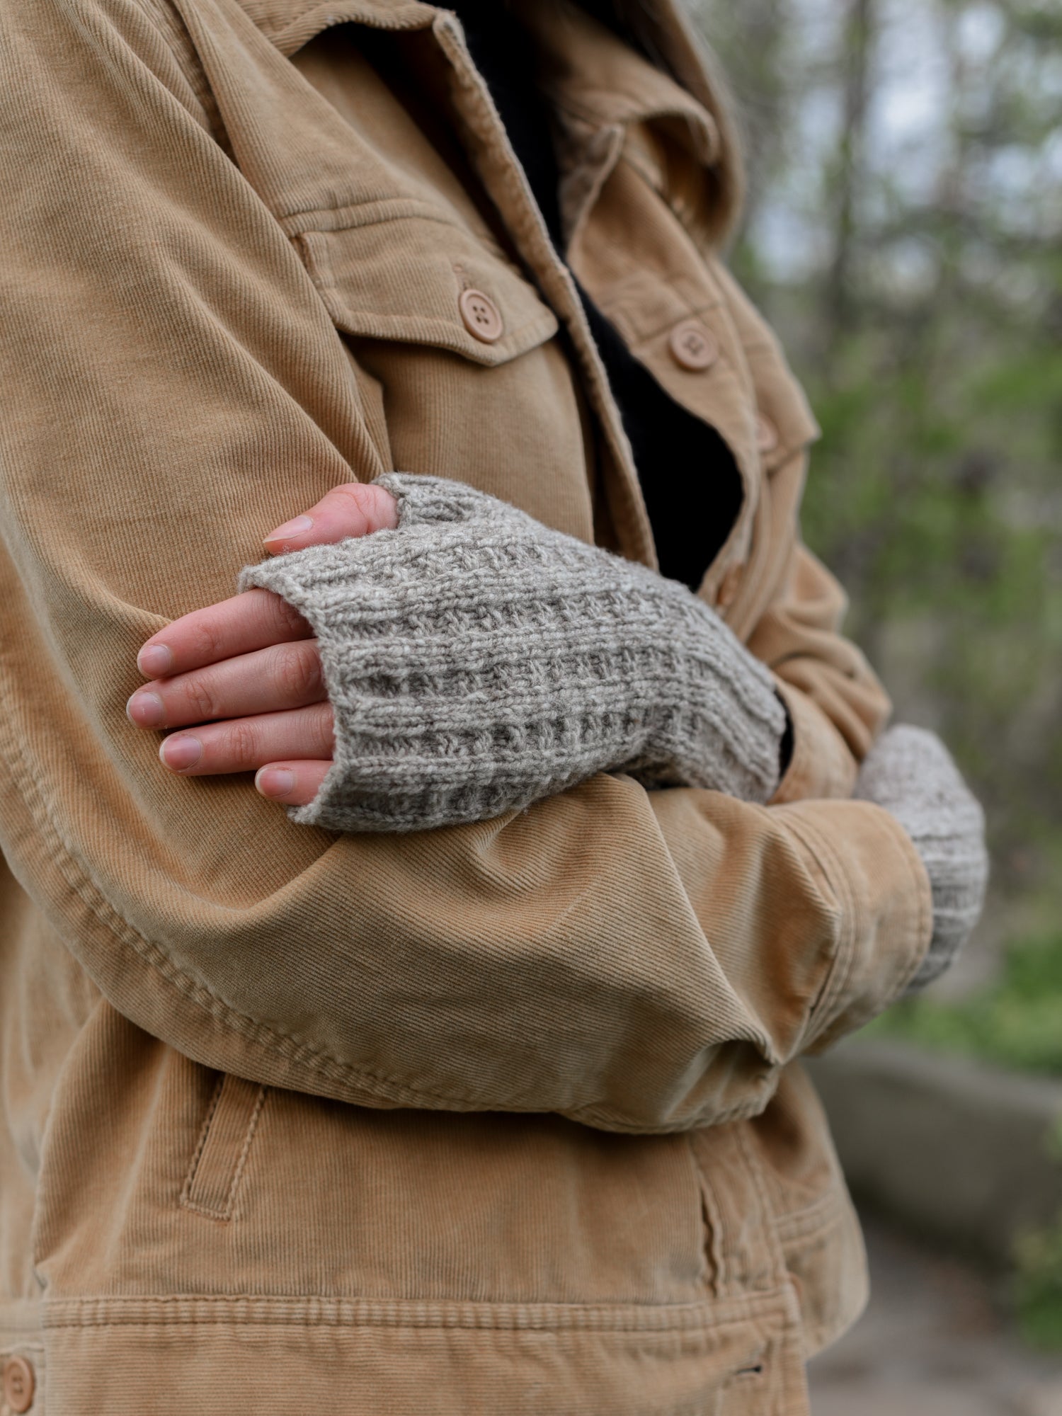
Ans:
<svg viewBox="0 0 1062 1416"><path fill-rule="evenodd" d="M394 531L248 566L317 636L334 760L292 820L484 821L624 770L766 801L784 708L684 586L442 477L389 473Z"/></svg>

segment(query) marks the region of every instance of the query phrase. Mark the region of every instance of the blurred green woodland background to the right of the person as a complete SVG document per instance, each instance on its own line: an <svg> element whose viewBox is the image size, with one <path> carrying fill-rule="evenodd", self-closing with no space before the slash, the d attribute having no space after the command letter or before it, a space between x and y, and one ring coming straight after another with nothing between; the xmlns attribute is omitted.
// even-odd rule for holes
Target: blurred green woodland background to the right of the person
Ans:
<svg viewBox="0 0 1062 1416"><path fill-rule="evenodd" d="M1062 0L688 3L745 129L733 265L823 426L806 538L847 586L898 718L942 733L990 823L991 896L961 964L851 1045L878 1072L913 1049L930 1061L905 1075L943 1089L920 1133L903 1116L923 1099L898 1107L906 1201L875 1187L857 1103L835 1076L823 1090L852 1180L916 1235L910 1263L937 1240L969 1260L947 1291L983 1274L980 1331L1003 1324L1042 1375L1034 1354L1062 1352ZM980 1124L983 1168L1018 1144L977 1112L1001 1075L1004 1112L1046 1119L1042 1146L983 1187L983 1218L1007 1211L990 1243L936 1233L949 1225L915 1195L939 1180L920 1141L952 1129L973 1164L961 1124ZM961 1124L947 1085L974 1099ZM902 1231L872 1242L882 1294L932 1287L929 1270L902 1281ZM1062 1385L1044 1399L1062 1412Z"/></svg>

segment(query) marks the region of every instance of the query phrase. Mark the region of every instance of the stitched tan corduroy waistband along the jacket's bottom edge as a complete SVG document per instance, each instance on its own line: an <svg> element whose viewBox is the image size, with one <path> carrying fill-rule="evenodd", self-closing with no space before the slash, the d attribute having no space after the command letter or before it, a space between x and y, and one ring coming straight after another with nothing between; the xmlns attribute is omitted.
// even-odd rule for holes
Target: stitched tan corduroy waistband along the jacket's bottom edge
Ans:
<svg viewBox="0 0 1062 1416"><path fill-rule="evenodd" d="M735 1396L807 1416L792 1284L644 1308L78 1297L41 1317L40 1416L712 1416Z"/></svg>

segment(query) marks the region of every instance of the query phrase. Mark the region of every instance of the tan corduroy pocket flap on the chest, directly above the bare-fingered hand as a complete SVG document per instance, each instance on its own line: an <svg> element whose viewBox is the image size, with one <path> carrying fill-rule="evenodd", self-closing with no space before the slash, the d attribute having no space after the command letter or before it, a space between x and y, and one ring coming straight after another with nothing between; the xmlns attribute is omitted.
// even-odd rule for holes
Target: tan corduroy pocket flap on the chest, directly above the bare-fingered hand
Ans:
<svg viewBox="0 0 1062 1416"><path fill-rule="evenodd" d="M520 270L455 222L365 208L350 217L338 229L295 236L333 323L347 334L433 344L489 365L556 334L556 316ZM501 333L490 341L466 326L464 290L481 292L497 309Z"/></svg>

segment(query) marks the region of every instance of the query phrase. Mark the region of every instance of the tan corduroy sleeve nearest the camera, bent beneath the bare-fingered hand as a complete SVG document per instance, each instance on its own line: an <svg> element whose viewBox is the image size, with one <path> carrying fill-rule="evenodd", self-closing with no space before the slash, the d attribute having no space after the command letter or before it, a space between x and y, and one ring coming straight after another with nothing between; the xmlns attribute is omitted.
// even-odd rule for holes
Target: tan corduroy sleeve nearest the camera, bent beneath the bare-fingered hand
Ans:
<svg viewBox="0 0 1062 1416"><path fill-rule="evenodd" d="M753 1113L895 997L927 881L865 801L599 775L411 835L174 780L139 644L265 525L379 469L297 255L133 0L0 16L3 850L109 1003L210 1066L365 1106L613 1130Z"/></svg>

